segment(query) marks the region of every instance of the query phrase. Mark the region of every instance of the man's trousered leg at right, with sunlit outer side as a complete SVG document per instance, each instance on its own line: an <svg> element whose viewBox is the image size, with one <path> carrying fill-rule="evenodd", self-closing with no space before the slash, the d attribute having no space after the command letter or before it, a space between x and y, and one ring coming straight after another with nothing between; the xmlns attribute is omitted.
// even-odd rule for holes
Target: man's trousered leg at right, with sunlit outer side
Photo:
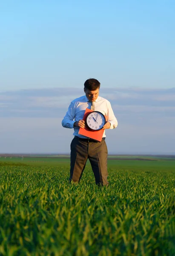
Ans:
<svg viewBox="0 0 175 256"><path fill-rule="evenodd" d="M95 176L95 183L108 186L107 156L105 140L89 143L89 161Z"/></svg>

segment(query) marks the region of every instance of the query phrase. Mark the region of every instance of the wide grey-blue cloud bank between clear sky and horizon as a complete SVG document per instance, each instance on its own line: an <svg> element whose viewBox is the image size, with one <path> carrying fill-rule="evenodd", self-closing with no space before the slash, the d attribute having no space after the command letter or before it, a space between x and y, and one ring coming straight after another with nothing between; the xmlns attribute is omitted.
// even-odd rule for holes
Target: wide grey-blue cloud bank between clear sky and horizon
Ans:
<svg viewBox="0 0 175 256"><path fill-rule="evenodd" d="M83 90L82 90L83 94ZM69 153L73 129L61 126L80 90L23 90L0 94L0 152ZM109 153L175 153L175 90L100 88L118 119L106 131Z"/></svg>

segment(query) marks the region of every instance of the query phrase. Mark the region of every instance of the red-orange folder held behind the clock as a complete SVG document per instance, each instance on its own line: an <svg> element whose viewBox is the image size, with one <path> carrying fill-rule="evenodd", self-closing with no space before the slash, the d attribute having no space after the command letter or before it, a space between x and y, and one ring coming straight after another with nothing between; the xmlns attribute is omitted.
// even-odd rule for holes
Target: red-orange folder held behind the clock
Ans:
<svg viewBox="0 0 175 256"><path fill-rule="evenodd" d="M93 112L93 110L89 109L89 108L86 108L86 111L84 113L84 116L83 116L83 120L85 121L86 120L86 116ZM108 120L108 117L105 116L106 118L106 121ZM80 128L78 134L81 134L81 135L84 135L88 138L91 138L93 140L97 140L97 141L101 141L102 140L102 137L103 137L103 133L104 133L104 130L101 129L101 130L98 130L98 131L92 131L90 130L88 127L85 127L85 128Z"/></svg>

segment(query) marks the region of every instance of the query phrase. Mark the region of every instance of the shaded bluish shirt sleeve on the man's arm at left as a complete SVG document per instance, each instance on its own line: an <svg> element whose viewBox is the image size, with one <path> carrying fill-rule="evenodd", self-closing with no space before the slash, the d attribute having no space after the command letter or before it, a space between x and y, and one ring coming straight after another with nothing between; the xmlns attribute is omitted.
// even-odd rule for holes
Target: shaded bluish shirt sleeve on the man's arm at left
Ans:
<svg viewBox="0 0 175 256"><path fill-rule="evenodd" d="M74 118L75 118L75 105L73 102L71 102L68 111L66 113L66 116L64 116L62 120L62 125L65 128L74 128Z"/></svg>

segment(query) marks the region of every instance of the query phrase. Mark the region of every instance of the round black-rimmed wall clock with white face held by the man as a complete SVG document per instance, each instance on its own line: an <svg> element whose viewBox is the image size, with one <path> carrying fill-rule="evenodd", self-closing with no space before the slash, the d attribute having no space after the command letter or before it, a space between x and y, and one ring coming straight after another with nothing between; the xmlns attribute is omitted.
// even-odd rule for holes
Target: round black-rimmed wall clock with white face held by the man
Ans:
<svg viewBox="0 0 175 256"><path fill-rule="evenodd" d="M105 123L105 116L99 111L93 111L86 117L87 126L94 131L102 129Z"/></svg>

